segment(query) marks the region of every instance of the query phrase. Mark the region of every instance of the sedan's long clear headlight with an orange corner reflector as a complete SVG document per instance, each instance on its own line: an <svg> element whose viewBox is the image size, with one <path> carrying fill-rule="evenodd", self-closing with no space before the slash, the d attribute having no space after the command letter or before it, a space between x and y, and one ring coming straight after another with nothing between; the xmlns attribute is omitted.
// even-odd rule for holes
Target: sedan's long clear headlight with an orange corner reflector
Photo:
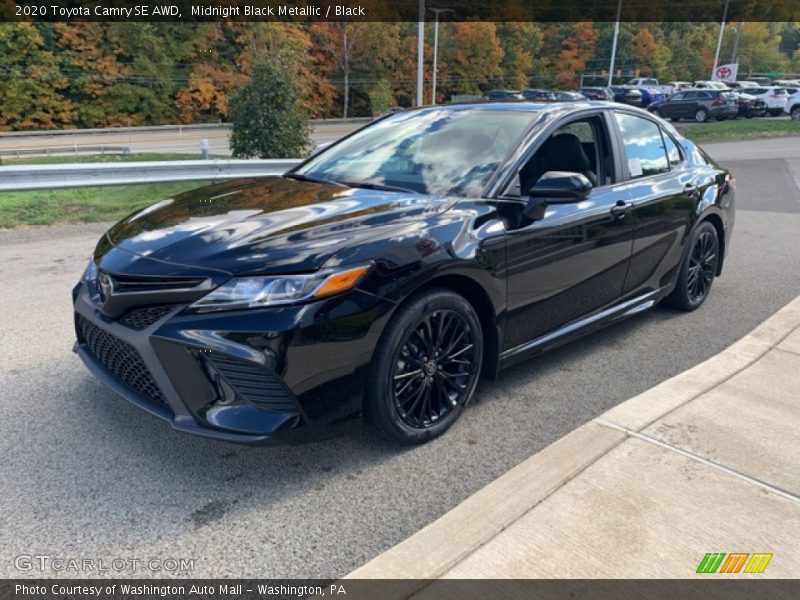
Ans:
<svg viewBox="0 0 800 600"><path fill-rule="evenodd" d="M192 312L241 310L294 304L353 288L372 265L309 275L234 277L189 307Z"/></svg>

